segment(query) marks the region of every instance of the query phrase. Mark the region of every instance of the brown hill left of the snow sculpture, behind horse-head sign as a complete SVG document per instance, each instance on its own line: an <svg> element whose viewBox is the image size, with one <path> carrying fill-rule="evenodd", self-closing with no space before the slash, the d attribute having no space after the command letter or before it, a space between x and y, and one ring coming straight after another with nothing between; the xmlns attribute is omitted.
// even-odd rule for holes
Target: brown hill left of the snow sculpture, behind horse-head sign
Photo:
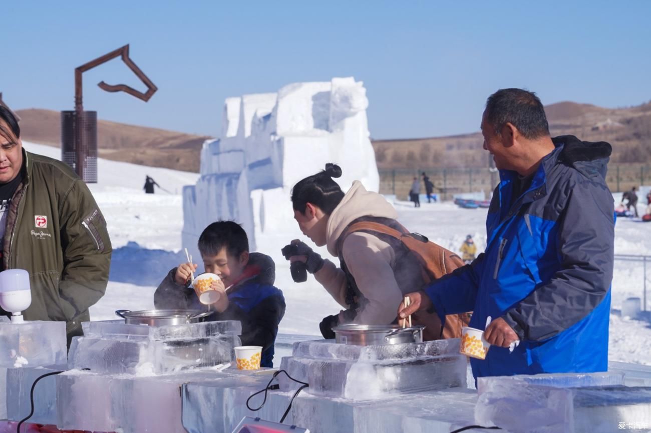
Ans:
<svg viewBox="0 0 651 433"><path fill-rule="evenodd" d="M23 140L61 146L61 114L58 111L18 110ZM199 172L201 144L208 137L165 129L98 120L100 157L155 167Z"/></svg>

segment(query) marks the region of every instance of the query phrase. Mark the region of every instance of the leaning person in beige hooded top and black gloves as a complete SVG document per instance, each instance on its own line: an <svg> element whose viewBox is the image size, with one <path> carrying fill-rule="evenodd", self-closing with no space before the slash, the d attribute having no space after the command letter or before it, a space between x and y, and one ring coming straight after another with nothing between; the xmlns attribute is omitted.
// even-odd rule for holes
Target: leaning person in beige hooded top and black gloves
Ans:
<svg viewBox="0 0 651 433"><path fill-rule="evenodd" d="M405 229L383 196L367 191L359 181L344 194L333 180L339 176L339 166L326 164L325 171L299 181L292 190L294 218L303 234L317 246L327 245L328 252L340 259L337 267L307 244L292 241L296 256L290 260L305 262L307 270L344 308L321 322L326 338L334 338L332 328L338 324L391 324L403 295L424 283L420 265L404 259L399 241L377 233L347 233L353 222L360 221Z"/></svg>

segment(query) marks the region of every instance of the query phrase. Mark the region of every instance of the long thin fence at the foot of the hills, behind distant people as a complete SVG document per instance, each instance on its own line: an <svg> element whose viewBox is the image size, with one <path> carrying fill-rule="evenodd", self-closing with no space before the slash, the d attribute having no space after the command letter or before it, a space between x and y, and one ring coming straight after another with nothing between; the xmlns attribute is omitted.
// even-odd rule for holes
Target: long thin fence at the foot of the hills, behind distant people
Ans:
<svg viewBox="0 0 651 433"><path fill-rule="evenodd" d="M499 181L499 174L495 169L480 168L381 168L380 193L394 194L398 198L408 198L414 177L421 181L422 173L430 177L434 183L434 192L449 200L454 194L462 192L476 192L483 190L490 194ZM612 192L630 190L644 183L651 184L651 166L644 164L608 164L606 176L608 187Z"/></svg>

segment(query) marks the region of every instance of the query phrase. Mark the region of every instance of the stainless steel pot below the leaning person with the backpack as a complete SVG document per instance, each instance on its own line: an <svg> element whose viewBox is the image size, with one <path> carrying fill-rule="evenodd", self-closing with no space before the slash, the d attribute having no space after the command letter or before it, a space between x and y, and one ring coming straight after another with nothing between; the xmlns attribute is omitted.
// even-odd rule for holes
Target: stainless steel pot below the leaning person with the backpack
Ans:
<svg viewBox="0 0 651 433"><path fill-rule="evenodd" d="M344 345L371 346L422 343L424 326L345 324L335 326L335 341Z"/></svg>

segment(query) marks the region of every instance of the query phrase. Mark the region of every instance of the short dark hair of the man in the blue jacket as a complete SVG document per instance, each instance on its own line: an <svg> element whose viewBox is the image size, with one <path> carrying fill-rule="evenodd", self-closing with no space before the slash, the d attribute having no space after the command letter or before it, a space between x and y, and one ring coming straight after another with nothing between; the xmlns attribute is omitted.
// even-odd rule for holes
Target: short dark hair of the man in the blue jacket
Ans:
<svg viewBox="0 0 651 433"><path fill-rule="evenodd" d="M534 92L521 88L497 90L486 100L486 122L497 135L510 123L529 140L549 135L545 107Z"/></svg>

